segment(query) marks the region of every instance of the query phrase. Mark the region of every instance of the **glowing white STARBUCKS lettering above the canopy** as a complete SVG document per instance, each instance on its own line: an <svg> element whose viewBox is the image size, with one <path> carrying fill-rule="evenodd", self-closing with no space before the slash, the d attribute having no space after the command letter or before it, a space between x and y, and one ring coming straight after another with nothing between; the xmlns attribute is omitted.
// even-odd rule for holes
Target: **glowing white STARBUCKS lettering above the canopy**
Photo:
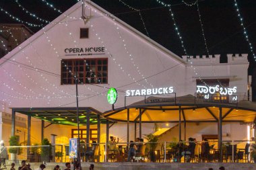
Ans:
<svg viewBox="0 0 256 170"><path fill-rule="evenodd" d="M138 95L162 95L173 93L173 87L160 87L154 89L137 89L137 90L127 90L126 96L138 96Z"/></svg>

